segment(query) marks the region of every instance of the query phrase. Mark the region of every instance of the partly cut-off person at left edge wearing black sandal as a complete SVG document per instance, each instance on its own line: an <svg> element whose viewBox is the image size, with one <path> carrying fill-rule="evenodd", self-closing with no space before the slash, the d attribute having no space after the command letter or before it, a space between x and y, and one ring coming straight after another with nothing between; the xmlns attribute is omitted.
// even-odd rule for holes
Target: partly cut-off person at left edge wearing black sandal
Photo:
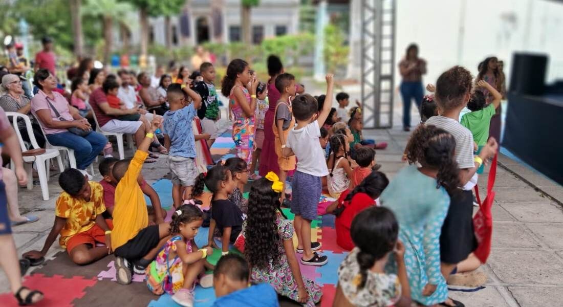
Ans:
<svg viewBox="0 0 563 307"><path fill-rule="evenodd" d="M21 158L20 145L14 129L10 125L10 121L6 117L6 113L0 109L0 141L4 146L0 150L4 150L10 155L12 163L16 166L17 181L20 185L28 182L28 177L24 170L24 162ZM0 156L0 164L2 164ZM29 288L21 284L21 271L29 268L29 261L17 260L16 244L12 237L12 229L10 219L8 219L7 211L7 195L5 183L2 180L2 169L0 169L0 265L4 269L10 289L20 305L34 304L43 299L43 293L39 291L31 291Z"/></svg>

